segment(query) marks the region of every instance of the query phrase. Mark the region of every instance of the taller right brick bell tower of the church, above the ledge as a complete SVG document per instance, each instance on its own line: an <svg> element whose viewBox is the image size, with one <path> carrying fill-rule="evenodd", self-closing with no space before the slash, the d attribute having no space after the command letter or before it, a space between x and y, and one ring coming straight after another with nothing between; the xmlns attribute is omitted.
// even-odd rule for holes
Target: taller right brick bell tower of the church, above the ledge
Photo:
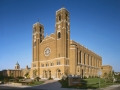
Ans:
<svg viewBox="0 0 120 90"><path fill-rule="evenodd" d="M56 58L70 57L70 14L65 8L56 11Z"/></svg>

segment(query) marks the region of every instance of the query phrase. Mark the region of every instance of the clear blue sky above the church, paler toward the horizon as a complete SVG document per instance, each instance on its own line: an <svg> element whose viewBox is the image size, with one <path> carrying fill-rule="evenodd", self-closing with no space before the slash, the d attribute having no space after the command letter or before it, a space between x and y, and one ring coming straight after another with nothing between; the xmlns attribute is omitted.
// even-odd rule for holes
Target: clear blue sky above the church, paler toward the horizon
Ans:
<svg viewBox="0 0 120 90"><path fill-rule="evenodd" d="M32 25L55 31L55 12L70 12L71 39L102 56L120 71L120 0L0 0L0 70L31 67Z"/></svg>

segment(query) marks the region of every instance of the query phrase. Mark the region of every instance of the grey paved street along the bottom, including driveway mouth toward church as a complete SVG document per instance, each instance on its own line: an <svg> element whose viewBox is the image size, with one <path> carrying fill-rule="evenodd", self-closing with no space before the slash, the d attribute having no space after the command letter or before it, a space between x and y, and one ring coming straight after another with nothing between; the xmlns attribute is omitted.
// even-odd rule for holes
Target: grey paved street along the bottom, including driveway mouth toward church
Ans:
<svg viewBox="0 0 120 90"><path fill-rule="evenodd" d="M0 84L0 89L18 89L18 90L86 90L86 89L70 89L61 88L61 84L55 80L48 80L42 85L37 86L14 86L8 84ZM112 85L104 89L87 89L87 90L120 90L119 85Z"/></svg>

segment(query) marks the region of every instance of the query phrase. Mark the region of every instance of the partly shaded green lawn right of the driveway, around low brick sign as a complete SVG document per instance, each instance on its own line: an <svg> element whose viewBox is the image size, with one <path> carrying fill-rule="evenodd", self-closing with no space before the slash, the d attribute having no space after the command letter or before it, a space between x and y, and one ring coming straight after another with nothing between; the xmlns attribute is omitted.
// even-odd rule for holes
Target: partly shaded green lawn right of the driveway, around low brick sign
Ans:
<svg viewBox="0 0 120 90"><path fill-rule="evenodd" d="M68 86L67 80L60 80L63 88L79 88L79 89L97 89L99 88L99 78L88 78L82 79L81 84ZM120 84L120 83L114 83ZM100 78L100 88L104 88L107 86L113 85L113 83L105 83L104 79Z"/></svg>

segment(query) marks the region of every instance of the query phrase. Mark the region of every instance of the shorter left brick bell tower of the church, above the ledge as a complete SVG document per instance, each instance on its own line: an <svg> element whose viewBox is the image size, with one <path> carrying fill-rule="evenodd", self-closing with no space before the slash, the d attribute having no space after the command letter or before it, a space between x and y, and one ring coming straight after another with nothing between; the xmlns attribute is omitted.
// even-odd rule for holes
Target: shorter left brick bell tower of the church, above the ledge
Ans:
<svg viewBox="0 0 120 90"><path fill-rule="evenodd" d="M33 24L33 36L32 36L32 52L33 62L39 61L39 44L44 39L44 26L39 22Z"/></svg>

